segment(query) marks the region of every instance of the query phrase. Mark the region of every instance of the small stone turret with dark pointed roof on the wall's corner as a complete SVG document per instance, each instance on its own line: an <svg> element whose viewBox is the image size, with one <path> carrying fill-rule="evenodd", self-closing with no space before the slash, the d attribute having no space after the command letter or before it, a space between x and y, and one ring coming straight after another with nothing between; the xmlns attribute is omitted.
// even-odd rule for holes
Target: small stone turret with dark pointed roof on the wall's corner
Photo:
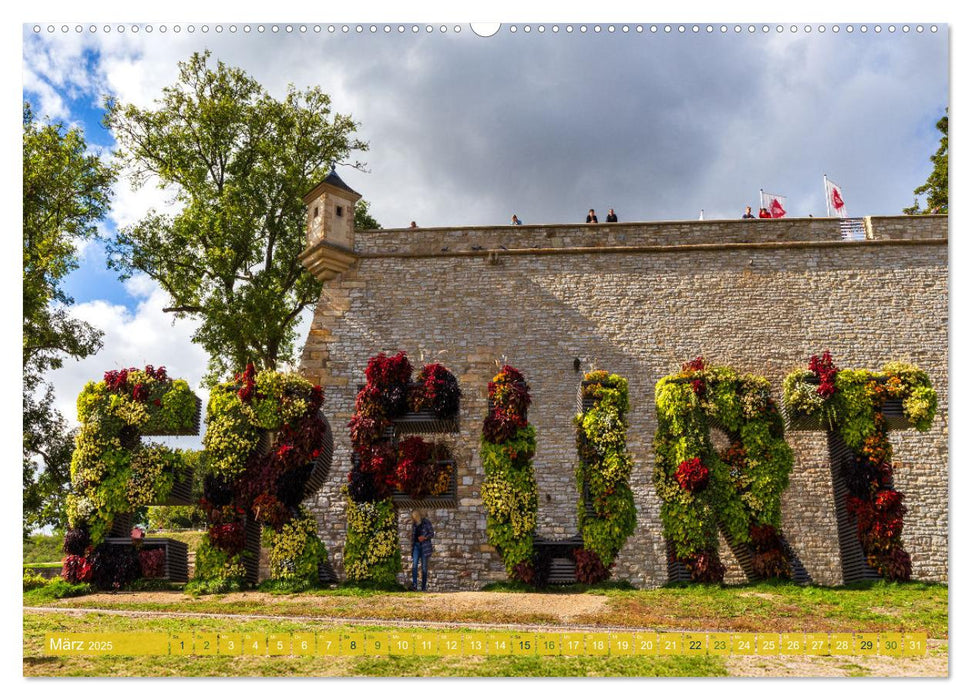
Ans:
<svg viewBox="0 0 971 700"><path fill-rule="evenodd" d="M307 248L300 261L321 281L333 279L357 259L354 255L354 205L361 195L330 174L304 195Z"/></svg>

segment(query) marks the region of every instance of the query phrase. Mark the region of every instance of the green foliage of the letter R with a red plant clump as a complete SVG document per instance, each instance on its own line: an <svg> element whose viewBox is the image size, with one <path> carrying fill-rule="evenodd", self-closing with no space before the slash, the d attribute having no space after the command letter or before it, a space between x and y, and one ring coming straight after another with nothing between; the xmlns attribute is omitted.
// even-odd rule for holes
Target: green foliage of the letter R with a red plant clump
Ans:
<svg viewBox="0 0 971 700"><path fill-rule="evenodd" d="M655 387L654 486L661 521L675 557L694 580L721 580L719 524L739 543L750 543L755 527L769 526L773 533L779 527L793 456L769 389L762 377L708 367L700 358ZM729 438L721 454L711 442L712 425ZM700 474L696 481L687 478L691 470Z"/></svg>

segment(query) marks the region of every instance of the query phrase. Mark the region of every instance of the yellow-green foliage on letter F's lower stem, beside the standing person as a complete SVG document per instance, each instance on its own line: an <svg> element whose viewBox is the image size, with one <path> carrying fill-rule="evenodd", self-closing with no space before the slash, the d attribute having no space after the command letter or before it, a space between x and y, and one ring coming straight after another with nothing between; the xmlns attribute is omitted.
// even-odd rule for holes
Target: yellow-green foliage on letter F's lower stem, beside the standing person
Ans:
<svg viewBox="0 0 971 700"><path fill-rule="evenodd" d="M398 512L390 498L355 503L343 487L347 508L344 573L355 583L393 586L401 571Z"/></svg>

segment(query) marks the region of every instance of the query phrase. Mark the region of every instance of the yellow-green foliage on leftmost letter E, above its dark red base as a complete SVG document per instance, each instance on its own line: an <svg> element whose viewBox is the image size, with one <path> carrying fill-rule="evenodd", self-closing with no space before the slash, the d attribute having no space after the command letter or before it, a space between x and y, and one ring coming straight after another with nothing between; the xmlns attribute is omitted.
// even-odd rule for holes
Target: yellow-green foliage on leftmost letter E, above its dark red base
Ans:
<svg viewBox="0 0 971 700"><path fill-rule="evenodd" d="M140 436L193 431L197 404L188 383L149 366L88 382L77 405L81 427L71 459L68 521L87 529L96 546L117 515L168 497L187 469L183 453L142 444Z"/></svg>

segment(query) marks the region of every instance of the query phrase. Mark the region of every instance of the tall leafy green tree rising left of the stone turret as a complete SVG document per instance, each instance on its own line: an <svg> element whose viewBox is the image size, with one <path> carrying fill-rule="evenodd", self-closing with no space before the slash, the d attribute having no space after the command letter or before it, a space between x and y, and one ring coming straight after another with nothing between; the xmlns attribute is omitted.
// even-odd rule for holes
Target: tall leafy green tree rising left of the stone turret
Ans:
<svg viewBox="0 0 971 700"><path fill-rule="evenodd" d="M367 144L319 87L291 85L276 100L208 59L180 63L154 109L108 100L105 124L136 184L154 177L181 206L120 231L109 265L123 278L146 273L170 296L165 311L201 321L193 340L209 353L213 382L250 361L275 369L292 359L300 312L321 290L298 259L302 196Z"/></svg>

